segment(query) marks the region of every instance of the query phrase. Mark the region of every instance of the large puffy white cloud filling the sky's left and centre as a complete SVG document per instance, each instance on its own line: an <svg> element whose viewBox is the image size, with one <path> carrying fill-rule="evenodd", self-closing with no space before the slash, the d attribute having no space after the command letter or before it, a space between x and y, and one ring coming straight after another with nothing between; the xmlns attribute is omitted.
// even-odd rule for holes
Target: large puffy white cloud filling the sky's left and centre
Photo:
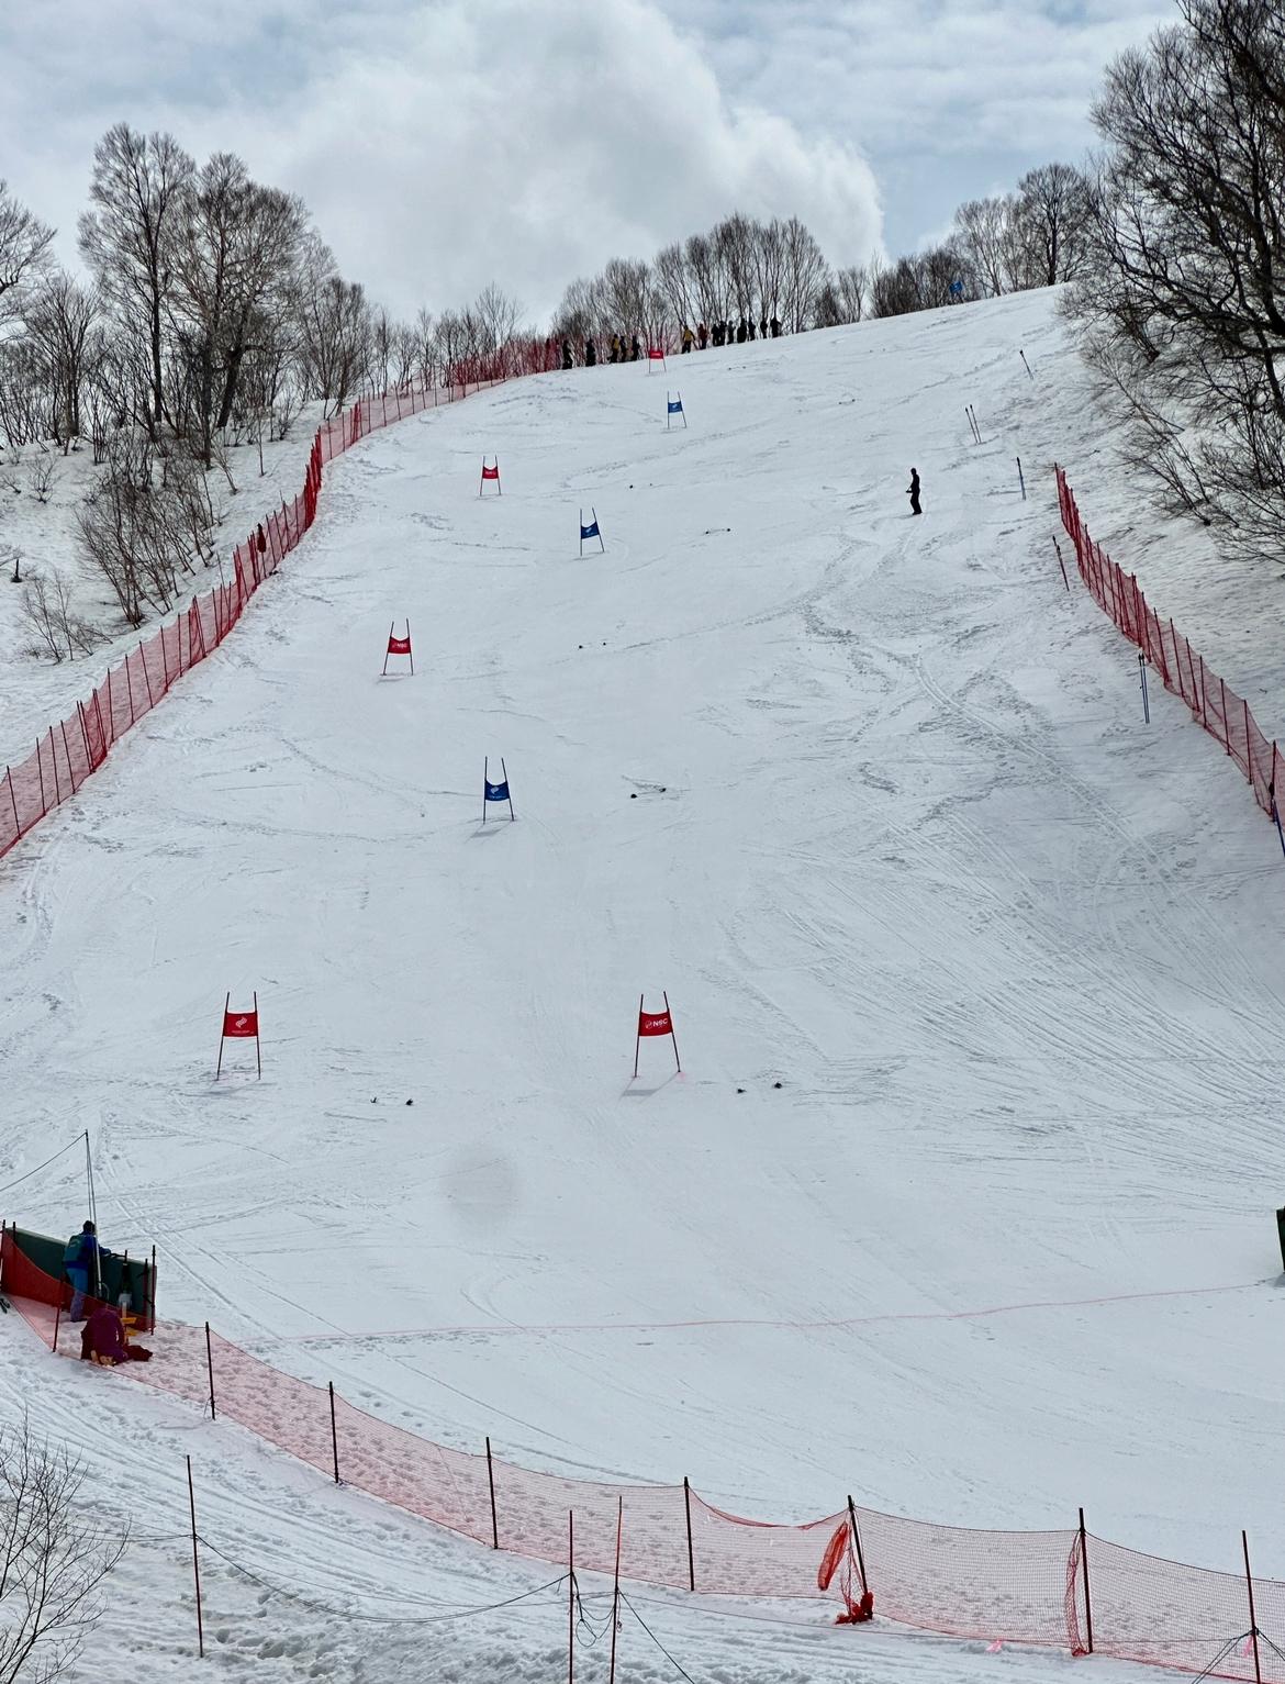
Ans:
<svg viewBox="0 0 1285 1684"><path fill-rule="evenodd" d="M118 118L300 192L397 310L495 280L544 317L576 274L733 209L800 216L839 263L879 241L856 148L728 98L653 0L19 0L0 61L0 157L67 259Z"/></svg>

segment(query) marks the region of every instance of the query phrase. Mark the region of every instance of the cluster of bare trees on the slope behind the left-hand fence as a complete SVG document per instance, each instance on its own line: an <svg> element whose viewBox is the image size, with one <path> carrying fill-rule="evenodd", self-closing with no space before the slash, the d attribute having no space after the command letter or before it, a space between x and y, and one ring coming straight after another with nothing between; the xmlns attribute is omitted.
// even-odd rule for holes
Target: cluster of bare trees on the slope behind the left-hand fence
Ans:
<svg viewBox="0 0 1285 1684"><path fill-rule="evenodd" d="M445 381L517 333L487 288L461 312L397 322L345 278L301 199L241 158L197 163L173 135L126 123L94 148L79 219L84 276L54 261L54 229L0 182L0 440L10 450L93 440L101 470L77 510L81 549L130 625L167 611L216 559L211 470L285 438L300 408ZM47 453L27 488L45 500ZM8 483L20 490L17 468ZM15 568L17 576L17 568ZM93 642L62 579L32 579L37 647Z"/></svg>

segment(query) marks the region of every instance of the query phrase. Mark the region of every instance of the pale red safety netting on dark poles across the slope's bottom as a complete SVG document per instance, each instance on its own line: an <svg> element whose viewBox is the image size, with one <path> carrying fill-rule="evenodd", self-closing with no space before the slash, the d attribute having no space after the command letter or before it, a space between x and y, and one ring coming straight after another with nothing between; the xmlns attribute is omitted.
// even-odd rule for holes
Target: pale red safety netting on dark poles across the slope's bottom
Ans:
<svg viewBox="0 0 1285 1684"><path fill-rule="evenodd" d="M27 1265L30 1271L34 1266ZM39 1275L39 1270L35 1271ZM17 1285L15 1285L17 1282ZM34 1288L5 1268L10 1292ZM49 1287L56 1287L49 1282ZM47 1307L13 1298L45 1344ZM1051 1532L933 1526L856 1505L803 1526L748 1521L682 1485L608 1485L537 1474L436 1445L357 1410L330 1389L283 1374L209 1329L162 1322L153 1357L125 1372L214 1410L328 1479L450 1527L487 1548L610 1573L623 1517L625 1578L733 1596L825 1598L818 1568L835 1527L856 1522L840 1580L874 1595L876 1617L987 1642L1108 1654L1216 1677L1255 1677L1246 1578L1160 1561L1074 1527ZM66 1349L66 1334L64 1334ZM1258 1665L1285 1684L1285 1583L1255 1580Z"/></svg>

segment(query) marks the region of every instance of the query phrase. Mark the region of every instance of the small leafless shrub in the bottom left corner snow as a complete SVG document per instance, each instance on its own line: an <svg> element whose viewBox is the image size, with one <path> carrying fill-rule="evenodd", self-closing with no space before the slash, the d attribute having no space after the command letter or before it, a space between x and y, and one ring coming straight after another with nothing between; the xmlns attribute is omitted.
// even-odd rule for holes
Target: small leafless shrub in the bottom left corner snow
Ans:
<svg viewBox="0 0 1285 1684"><path fill-rule="evenodd" d="M128 1543L83 1499L84 1468L20 1425L0 1428L0 1684L51 1684L98 1623Z"/></svg>

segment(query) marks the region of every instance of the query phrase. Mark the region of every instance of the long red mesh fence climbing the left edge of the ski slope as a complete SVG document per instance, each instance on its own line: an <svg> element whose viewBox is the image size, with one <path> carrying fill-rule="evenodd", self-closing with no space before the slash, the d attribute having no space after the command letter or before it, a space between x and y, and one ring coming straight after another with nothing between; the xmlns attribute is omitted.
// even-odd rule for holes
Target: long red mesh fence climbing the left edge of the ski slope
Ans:
<svg viewBox="0 0 1285 1684"><path fill-rule="evenodd" d="M539 357L527 347L525 360L534 365L542 355L542 344ZM76 704L72 714L51 726L27 759L5 768L0 778L0 855L69 800L84 780L98 771L111 746L152 712L173 682L222 643L251 596L276 573L317 519L317 498L327 461L333 461L359 440L392 421L467 397L468 392L510 377L505 372L477 372L478 369L493 365L502 370L502 365L512 365L514 372L534 372L534 367L524 365L522 347L509 347L504 355L475 362L477 369L470 365L460 376L451 370L451 384L445 389L404 386L360 397L352 409L322 423L313 438L303 490L293 502L281 504L243 544L237 544L232 552L231 581L205 596L194 598L172 625L162 626L126 655L120 667L113 667L98 689Z"/></svg>

